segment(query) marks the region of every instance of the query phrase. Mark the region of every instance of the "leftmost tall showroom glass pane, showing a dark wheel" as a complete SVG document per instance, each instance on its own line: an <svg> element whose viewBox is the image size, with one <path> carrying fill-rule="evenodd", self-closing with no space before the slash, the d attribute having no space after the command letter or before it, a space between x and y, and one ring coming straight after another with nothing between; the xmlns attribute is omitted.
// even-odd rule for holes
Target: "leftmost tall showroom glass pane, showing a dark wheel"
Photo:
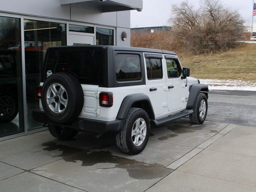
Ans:
<svg viewBox="0 0 256 192"><path fill-rule="evenodd" d="M20 19L0 16L0 137L23 132Z"/></svg>

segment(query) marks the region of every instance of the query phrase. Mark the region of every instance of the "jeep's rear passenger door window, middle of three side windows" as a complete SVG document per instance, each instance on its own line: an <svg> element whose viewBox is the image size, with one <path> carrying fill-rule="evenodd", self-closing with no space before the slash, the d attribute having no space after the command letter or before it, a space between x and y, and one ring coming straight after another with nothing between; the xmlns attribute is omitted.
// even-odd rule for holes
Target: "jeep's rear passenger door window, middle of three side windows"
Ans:
<svg viewBox="0 0 256 192"><path fill-rule="evenodd" d="M146 58L147 76L148 79L161 79L163 77L162 72L162 60L154 58Z"/></svg>

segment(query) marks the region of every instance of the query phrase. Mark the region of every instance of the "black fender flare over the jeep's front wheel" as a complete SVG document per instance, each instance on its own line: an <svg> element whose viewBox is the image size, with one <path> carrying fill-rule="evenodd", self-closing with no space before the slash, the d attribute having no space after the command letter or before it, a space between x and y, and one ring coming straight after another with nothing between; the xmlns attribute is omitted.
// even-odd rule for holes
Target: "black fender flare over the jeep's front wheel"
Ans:
<svg viewBox="0 0 256 192"><path fill-rule="evenodd" d="M190 86L189 92L187 108L193 108L195 106L196 98L200 92L206 94L206 98L208 99L209 89L206 84L193 84Z"/></svg>

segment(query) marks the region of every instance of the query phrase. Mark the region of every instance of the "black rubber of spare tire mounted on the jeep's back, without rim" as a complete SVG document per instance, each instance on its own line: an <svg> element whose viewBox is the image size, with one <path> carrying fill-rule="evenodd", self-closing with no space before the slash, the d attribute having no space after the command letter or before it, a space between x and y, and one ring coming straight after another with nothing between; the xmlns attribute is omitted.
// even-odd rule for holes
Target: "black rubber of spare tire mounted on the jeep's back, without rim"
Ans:
<svg viewBox="0 0 256 192"><path fill-rule="evenodd" d="M50 87L56 84L61 84L65 89L65 96L63 96L64 94L62 94L62 97L66 98L66 107L60 104L61 100L63 99L60 94L57 94L57 96L54 97L54 103L48 105L48 101L46 98L47 94L49 94L47 93L48 89L50 90ZM56 86L56 89L57 87L58 86ZM60 86L58 88L58 93L60 93ZM53 92L51 92L50 94L53 94ZM74 76L74 74L67 72L55 73L46 78L42 87L41 100L44 112L46 113L48 118L50 118L50 120L57 123L66 123L75 120L81 113L84 106L84 93L80 82L78 81L76 76ZM53 111L53 108L57 104L60 105L60 108L62 107L62 111Z"/></svg>

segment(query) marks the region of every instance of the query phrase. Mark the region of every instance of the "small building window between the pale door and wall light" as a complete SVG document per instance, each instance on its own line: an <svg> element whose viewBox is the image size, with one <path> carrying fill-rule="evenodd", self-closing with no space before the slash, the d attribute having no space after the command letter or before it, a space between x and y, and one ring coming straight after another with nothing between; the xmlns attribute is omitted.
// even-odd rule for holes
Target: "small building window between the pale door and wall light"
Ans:
<svg viewBox="0 0 256 192"><path fill-rule="evenodd" d="M96 45L114 45L114 30L96 27Z"/></svg>

